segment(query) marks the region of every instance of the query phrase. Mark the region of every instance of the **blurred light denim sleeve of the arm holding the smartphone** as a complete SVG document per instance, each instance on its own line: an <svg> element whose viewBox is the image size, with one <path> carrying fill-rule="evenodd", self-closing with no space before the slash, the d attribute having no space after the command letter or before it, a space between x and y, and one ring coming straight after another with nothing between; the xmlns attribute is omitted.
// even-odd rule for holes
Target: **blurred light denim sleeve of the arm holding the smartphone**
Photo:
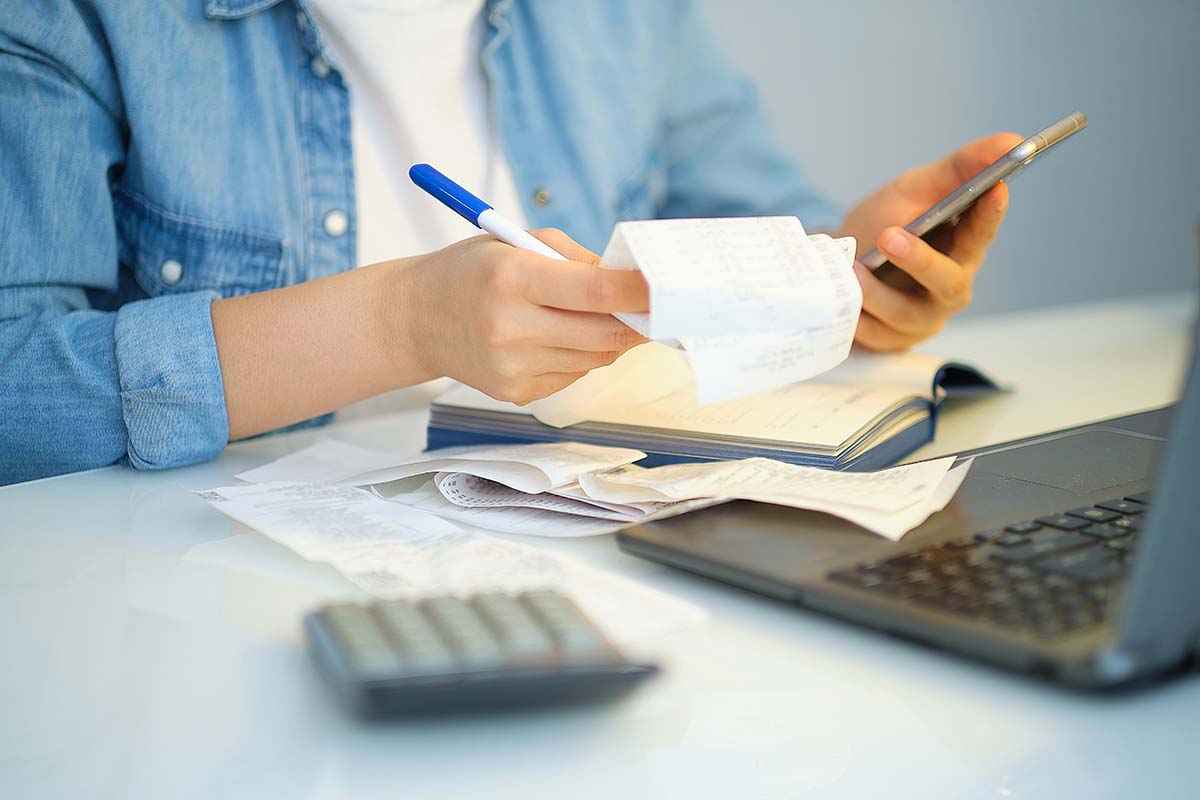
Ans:
<svg viewBox="0 0 1200 800"><path fill-rule="evenodd" d="M670 30L660 216L796 215L809 230L835 230L842 210L780 148L757 91L691 0L678 0Z"/></svg>

